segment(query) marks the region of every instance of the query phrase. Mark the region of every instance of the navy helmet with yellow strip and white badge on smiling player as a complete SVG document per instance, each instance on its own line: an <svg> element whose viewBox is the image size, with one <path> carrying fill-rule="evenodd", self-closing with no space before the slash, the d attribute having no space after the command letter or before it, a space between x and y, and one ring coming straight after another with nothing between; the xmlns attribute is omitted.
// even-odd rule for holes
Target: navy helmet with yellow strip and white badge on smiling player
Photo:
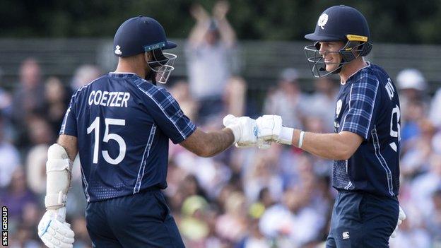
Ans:
<svg viewBox="0 0 441 248"><path fill-rule="evenodd" d="M312 74L317 78L339 73L344 64L366 56L372 49L366 18L355 8L344 5L332 6L323 11L314 33L305 35L305 38L315 42L305 47L305 53ZM319 54L319 42L332 41L346 42L346 45L338 51L342 59L337 69L326 71L324 58Z"/></svg>

